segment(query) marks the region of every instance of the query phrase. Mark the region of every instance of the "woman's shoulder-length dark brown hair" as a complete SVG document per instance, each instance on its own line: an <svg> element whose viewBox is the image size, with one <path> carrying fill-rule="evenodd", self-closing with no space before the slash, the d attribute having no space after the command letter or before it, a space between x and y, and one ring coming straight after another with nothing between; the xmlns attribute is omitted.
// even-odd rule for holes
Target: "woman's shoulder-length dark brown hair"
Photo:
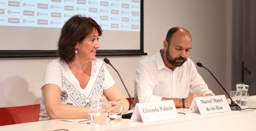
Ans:
<svg viewBox="0 0 256 131"><path fill-rule="evenodd" d="M102 35L102 29L95 20L81 15L74 15L69 18L61 29L58 42L57 55L60 59L71 62L75 56L75 45L82 42L92 31L96 29L99 36Z"/></svg>

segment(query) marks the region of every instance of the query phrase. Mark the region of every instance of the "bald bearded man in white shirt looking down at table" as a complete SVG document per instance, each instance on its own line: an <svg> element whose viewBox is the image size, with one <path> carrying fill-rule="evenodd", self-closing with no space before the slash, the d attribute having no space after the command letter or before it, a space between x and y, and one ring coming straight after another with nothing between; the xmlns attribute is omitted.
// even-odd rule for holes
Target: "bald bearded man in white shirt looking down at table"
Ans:
<svg viewBox="0 0 256 131"><path fill-rule="evenodd" d="M171 28L163 42L164 49L142 59L135 76L134 102L173 100L177 108L189 108L194 97L213 96L190 60L190 33ZM189 92L192 95L189 96Z"/></svg>

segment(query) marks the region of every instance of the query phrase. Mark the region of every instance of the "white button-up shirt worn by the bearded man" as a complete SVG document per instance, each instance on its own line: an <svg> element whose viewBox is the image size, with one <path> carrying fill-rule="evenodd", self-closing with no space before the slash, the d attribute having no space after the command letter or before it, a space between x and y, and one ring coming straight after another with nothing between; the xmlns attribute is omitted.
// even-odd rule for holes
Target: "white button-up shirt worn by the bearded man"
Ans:
<svg viewBox="0 0 256 131"><path fill-rule="evenodd" d="M164 65L160 52L138 63L135 103L161 101L162 97L186 98L189 92L213 94L189 58L174 71Z"/></svg>

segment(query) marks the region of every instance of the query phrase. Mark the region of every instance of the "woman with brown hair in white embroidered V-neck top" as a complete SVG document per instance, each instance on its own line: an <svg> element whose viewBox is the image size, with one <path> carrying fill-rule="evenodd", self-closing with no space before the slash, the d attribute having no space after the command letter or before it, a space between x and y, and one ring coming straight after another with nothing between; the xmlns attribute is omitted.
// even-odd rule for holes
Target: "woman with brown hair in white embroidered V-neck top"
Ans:
<svg viewBox="0 0 256 131"><path fill-rule="evenodd" d="M90 97L129 102L119 91L103 62L96 59L102 29L92 18L75 15L62 27L59 58L47 65L42 82L40 121L88 118Z"/></svg>

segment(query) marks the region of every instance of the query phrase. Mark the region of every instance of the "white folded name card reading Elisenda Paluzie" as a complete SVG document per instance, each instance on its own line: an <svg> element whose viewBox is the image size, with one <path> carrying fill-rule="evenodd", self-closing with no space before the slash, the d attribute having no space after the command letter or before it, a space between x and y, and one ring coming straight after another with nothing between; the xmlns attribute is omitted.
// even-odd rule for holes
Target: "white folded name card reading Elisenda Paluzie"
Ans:
<svg viewBox="0 0 256 131"><path fill-rule="evenodd" d="M137 103L131 116L132 121L150 123L178 118L173 100Z"/></svg>

